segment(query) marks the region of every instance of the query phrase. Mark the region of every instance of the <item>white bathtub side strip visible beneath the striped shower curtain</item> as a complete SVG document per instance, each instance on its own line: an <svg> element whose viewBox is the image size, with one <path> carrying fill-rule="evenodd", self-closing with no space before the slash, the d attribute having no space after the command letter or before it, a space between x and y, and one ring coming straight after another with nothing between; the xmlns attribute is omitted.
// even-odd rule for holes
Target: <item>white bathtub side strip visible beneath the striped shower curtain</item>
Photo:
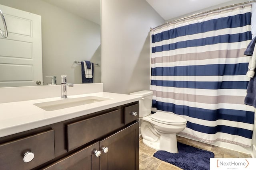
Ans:
<svg viewBox="0 0 256 170"><path fill-rule="evenodd" d="M192 139L194 141L198 141L198 140L193 139L191 137L188 137L186 135L181 135L181 134L177 134L177 135L180 136L180 137L185 137L185 138L188 138L188 139ZM202 141L200 141L200 142L202 142ZM205 142L202 142L202 143L205 143ZM221 141L216 141L214 143L211 143L211 145L226 148L226 149L236 150L238 152L243 152L243 153L246 153L246 154L251 154L251 155L253 154L252 153L252 148L253 147L246 148L246 147L242 147L240 145L235 145L235 144L232 144L232 143L226 143L226 142L221 142ZM254 151L255 151L255 156L256 156L256 147L255 146L254 146Z"/></svg>

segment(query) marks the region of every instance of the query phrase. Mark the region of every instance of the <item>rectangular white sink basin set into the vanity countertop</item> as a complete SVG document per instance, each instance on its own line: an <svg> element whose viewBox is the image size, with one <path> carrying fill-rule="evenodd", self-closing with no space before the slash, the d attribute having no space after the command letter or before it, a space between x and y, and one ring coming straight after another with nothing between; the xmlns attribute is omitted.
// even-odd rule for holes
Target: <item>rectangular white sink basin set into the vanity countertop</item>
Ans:
<svg viewBox="0 0 256 170"><path fill-rule="evenodd" d="M42 102L42 103L36 103L34 104L37 107L40 107L41 109L44 109L46 111L54 111L58 109L65 109L68 107L74 107L74 106L81 106L96 102L102 102L105 100L110 100L111 98L103 98L98 96L86 96L82 98L67 98L62 100L56 100L56 101L50 101L50 102Z"/></svg>

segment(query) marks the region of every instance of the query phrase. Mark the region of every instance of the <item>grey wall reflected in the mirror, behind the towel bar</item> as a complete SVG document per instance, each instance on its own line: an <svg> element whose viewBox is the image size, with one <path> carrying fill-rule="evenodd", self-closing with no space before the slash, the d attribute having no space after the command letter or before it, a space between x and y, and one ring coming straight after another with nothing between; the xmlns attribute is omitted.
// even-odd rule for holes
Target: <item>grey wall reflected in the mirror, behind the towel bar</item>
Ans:
<svg viewBox="0 0 256 170"><path fill-rule="evenodd" d="M42 0L0 0L0 4L42 16L42 65L45 76L67 75L67 81L81 84L81 66L74 60L99 63L100 25ZM94 82L101 82L101 67L94 67Z"/></svg>

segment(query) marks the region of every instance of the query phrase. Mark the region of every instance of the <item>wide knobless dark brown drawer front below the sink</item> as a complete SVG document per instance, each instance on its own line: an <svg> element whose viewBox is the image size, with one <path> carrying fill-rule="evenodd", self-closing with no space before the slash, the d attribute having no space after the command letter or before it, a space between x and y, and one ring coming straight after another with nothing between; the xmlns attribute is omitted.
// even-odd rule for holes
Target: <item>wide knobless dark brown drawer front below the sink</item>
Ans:
<svg viewBox="0 0 256 170"><path fill-rule="evenodd" d="M73 150L123 126L122 109L67 125L67 149Z"/></svg>

